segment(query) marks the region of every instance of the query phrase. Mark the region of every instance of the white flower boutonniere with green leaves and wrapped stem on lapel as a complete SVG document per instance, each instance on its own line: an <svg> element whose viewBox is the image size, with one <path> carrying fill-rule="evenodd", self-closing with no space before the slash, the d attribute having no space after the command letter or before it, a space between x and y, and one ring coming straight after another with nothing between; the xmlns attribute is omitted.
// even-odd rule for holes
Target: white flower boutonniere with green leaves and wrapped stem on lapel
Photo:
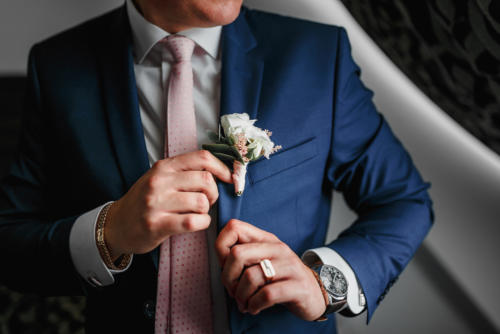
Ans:
<svg viewBox="0 0 500 334"><path fill-rule="evenodd" d="M213 134L215 143L203 145L203 149L233 168L234 191L238 196L245 189L248 163L262 156L269 159L271 154L281 149L281 145L275 146L271 141L271 131L256 127L256 121L246 113L224 115L220 120L219 133Z"/></svg>

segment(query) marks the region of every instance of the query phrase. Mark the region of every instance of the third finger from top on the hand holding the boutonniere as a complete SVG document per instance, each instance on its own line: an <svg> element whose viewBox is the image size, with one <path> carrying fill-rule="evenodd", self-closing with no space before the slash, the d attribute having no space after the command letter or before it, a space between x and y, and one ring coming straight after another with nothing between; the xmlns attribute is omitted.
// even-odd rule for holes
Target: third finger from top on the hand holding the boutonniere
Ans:
<svg viewBox="0 0 500 334"><path fill-rule="evenodd" d="M169 213L208 213L210 202L204 193L171 192L161 203L161 209Z"/></svg>

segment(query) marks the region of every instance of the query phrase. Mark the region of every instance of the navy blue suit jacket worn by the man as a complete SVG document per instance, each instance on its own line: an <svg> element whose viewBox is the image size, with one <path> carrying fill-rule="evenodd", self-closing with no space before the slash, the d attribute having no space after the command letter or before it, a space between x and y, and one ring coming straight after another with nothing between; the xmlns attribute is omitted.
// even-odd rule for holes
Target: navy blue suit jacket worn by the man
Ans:
<svg viewBox="0 0 500 334"><path fill-rule="evenodd" d="M120 198L149 168L124 8L33 47L19 157L0 191L1 281L46 295L86 294L87 330L152 331L156 267L138 255L116 283L75 271L75 219ZM328 247L353 268L368 317L431 226L410 157L372 103L342 28L243 9L222 32L221 114L250 114L283 146L251 163L242 197L219 184L218 228L230 218L276 234L297 254L323 246L333 189L359 215ZM233 333L334 333L282 306L258 316L230 303Z"/></svg>

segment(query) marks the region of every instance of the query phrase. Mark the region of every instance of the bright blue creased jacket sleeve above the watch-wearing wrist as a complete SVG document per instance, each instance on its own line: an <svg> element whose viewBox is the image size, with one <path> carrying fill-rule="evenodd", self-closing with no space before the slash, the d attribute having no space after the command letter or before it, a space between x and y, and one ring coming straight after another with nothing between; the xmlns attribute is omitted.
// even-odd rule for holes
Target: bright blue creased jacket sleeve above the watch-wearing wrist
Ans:
<svg viewBox="0 0 500 334"><path fill-rule="evenodd" d="M327 178L358 219L328 246L354 270L368 321L428 233L428 184L373 105L360 80L345 30L340 30L334 131Z"/></svg>

